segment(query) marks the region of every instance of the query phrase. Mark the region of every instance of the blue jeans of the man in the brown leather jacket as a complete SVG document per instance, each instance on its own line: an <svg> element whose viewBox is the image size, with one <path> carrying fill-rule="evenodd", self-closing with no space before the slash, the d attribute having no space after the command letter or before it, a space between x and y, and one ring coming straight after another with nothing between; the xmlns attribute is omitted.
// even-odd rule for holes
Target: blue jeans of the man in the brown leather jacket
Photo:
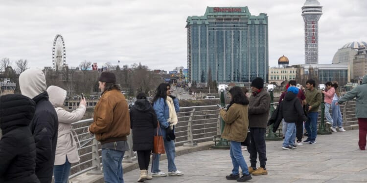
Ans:
<svg viewBox="0 0 367 183"><path fill-rule="evenodd" d="M122 159L125 151L102 149L103 176L105 183L124 183Z"/></svg>

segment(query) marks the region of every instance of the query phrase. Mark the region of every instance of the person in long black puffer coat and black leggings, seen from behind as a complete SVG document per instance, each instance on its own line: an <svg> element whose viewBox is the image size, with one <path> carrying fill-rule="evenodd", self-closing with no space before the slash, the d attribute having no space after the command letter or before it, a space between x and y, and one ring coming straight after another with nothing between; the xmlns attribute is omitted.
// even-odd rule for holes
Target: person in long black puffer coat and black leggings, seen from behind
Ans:
<svg viewBox="0 0 367 183"><path fill-rule="evenodd" d="M144 93L139 93L137 101L130 109L130 126L133 129L133 150L137 151L140 177L138 182L152 179L148 175L150 154L153 150L154 129L158 120L156 112Z"/></svg>

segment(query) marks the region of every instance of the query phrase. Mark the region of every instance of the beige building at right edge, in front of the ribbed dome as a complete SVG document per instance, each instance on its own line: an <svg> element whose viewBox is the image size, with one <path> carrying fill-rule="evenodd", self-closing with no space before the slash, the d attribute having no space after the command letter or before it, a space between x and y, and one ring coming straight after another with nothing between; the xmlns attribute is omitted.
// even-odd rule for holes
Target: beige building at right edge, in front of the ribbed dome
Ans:
<svg viewBox="0 0 367 183"><path fill-rule="evenodd" d="M367 48L360 47L353 60L353 79L358 81L367 74Z"/></svg>

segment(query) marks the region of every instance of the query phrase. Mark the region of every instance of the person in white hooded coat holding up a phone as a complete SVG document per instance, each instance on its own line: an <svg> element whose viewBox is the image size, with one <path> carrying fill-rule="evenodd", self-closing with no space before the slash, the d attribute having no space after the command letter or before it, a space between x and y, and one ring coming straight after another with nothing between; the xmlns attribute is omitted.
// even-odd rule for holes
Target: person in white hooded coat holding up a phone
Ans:
<svg viewBox="0 0 367 183"><path fill-rule="evenodd" d="M87 103L85 99L82 99L79 107L69 112L63 108L67 95L66 90L58 86L49 86L47 93L49 101L55 107L59 120L53 176L55 183L67 183L71 163L79 162L78 149L71 131L71 123L83 118Z"/></svg>

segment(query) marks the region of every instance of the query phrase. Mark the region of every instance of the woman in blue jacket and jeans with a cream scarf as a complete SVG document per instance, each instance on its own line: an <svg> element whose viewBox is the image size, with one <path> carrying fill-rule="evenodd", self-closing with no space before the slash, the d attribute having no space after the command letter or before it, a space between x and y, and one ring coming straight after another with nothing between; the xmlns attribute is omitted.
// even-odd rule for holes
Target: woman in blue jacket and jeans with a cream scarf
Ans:
<svg viewBox="0 0 367 183"><path fill-rule="evenodd" d="M179 101L176 97L171 95L171 86L167 83L161 83L157 90L156 95L153 98L153 109L157 114L157 119L161 131L159 135L163 136L164 149L167 154L168 160L168 175L170 176L182 176L183 172L177 170L175 164L175 125L178 122L176 112L180 111ZM155 130L157 133L157 130ZM152 176L153 177L165 177L167 174L161 172L159 169L160 154L153 154L152 163Z"/></svg>

